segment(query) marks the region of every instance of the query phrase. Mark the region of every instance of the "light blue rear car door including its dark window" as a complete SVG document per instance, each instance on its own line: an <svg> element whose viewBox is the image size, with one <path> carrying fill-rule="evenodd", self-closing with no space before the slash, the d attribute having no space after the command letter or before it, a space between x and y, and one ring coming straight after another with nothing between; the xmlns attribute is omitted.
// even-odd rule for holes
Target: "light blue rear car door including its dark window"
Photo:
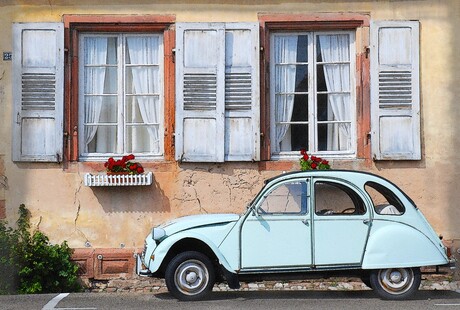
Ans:
<svg viewBox="0 0 460 310"><path fill-rule="evenodd" d="M344 181L314 179L314 265L361 265L370 212L359 189Z"/></svg>

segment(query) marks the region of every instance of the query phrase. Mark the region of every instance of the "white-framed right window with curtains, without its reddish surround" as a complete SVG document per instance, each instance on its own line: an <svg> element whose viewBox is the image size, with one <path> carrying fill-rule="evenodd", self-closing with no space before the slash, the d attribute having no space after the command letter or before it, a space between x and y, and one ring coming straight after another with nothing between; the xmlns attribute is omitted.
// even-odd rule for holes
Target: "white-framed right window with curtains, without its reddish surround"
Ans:
<svg viewBox="0 0 460 310"><path fill-rule="evenodd" d="M355 154L354 33L273 33L272 155Z"/></svg>

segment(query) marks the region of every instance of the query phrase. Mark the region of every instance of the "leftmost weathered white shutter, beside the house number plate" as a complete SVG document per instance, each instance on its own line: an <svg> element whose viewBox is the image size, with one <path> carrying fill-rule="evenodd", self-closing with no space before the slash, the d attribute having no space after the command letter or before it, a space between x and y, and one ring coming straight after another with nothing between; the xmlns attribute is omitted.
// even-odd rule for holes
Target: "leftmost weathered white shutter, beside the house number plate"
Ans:
<svg viewBox="0 0 460 310"><path fill-rule="evenodd" d="M14 23L14 161L62 160L63 78L63 25Z"/></svg>

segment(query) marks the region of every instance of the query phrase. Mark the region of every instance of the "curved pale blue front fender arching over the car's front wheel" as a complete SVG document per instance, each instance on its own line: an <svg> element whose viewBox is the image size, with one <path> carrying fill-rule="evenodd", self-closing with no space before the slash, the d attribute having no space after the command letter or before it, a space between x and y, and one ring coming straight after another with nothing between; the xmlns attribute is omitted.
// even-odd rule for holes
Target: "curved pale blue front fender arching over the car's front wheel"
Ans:
<svg viewBox="0 0 460 310"><path fill-rule="evenodd" d="M168 255L169 251L171 250L171 248L177 242L180 242L181 240L184 240L184 239L196 239L198 241L205 243L213 251L219 263L225 269L233 273L235 272L234 270L232 270L227 259L225 258L225 256L222 254L222 252L219 250L217 245L212 240L210 240L208 237L204 236L203 234L200 234L198 232L193 232L193 231L180 232L172 236L169 236L168 238L163 240L153 252L154 258L150 260L150 264L149 264L150 272L152 273L157 272L161 264L163 263L164 259Z"/></svg>

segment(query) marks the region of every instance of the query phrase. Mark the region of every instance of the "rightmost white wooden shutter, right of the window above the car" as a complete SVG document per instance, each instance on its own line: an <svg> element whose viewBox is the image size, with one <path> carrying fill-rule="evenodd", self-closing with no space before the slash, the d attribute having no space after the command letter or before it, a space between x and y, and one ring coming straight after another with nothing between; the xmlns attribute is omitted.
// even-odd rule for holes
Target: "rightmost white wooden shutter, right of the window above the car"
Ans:
<svg viewBox="0 0 460 310"><path fill-rule="evenodd" d="M371 24L372 152L377 160L419 160L419 23Z"/></svg>

